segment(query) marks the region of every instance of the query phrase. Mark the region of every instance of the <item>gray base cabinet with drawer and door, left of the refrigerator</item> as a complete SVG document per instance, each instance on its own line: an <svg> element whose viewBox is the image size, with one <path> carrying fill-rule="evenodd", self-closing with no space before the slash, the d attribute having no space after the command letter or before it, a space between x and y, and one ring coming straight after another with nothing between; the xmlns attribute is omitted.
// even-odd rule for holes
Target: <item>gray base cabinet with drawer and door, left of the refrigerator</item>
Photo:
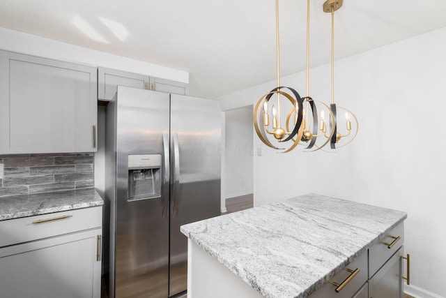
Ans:
<svg viewBox="0 0 446 298"><path fill-rule="evenodd" d="M102 207L0 221L0 296L100 298Z"/></svg>

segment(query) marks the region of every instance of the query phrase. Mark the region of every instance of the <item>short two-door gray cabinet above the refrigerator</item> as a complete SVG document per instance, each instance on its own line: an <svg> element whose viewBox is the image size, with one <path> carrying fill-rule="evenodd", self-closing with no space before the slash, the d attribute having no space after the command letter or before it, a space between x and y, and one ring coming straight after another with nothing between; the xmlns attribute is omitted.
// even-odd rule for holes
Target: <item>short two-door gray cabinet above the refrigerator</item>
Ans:
<svg viewBox="0 0 446 298"><path fill-rule="evenodd" d="M188 84L149 77L138 73L128 73L112 68L98 67L98 100L110 101L116 94L116 87L125 86L138 89L147 89L171 94L188 95Z"/></svg>

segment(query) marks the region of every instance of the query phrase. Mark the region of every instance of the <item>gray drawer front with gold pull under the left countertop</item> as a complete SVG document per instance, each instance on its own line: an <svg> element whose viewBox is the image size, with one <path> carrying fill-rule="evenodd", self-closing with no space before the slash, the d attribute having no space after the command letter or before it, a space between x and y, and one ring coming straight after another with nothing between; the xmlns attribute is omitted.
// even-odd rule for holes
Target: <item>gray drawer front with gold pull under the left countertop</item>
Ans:
<svg viewBox="0 0 446 298"><path fill-rule="evenodd" d="M100 228L102 206L0 221L0 247Z"/></svg>

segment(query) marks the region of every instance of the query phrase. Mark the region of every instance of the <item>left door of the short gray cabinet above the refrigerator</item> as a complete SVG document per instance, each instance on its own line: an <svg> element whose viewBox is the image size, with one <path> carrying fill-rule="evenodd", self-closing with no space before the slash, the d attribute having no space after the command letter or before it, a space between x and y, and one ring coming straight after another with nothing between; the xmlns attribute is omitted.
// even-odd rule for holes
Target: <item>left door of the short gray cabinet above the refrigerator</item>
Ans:
<svg viewBox="0 0 446 298"><path fill-rule="evenodd" d="M98 67L98 100L112 100L118 85L148 89L148 84L146 75Z"/></svg>

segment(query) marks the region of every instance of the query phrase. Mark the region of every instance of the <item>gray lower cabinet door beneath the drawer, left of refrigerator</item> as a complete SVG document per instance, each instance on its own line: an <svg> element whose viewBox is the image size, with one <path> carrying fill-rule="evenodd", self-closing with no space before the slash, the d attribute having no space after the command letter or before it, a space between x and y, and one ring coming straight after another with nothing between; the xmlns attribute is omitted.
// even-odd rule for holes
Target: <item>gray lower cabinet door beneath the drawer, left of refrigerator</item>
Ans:
<svg viewBox="0 0 446 298"><path fill-rule="evenodd" d="M100 298L100 234L89 230L0 248L1 297Z"/></svg>

